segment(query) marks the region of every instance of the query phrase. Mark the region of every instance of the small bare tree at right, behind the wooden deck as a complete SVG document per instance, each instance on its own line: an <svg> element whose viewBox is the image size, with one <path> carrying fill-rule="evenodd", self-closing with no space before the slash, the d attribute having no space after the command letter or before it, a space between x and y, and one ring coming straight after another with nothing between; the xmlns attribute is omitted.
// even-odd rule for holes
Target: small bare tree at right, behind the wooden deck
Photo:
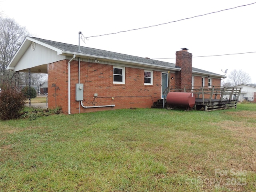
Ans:
<svg viewBox="0 0 256 192"><path fill-rule="evenodd" d="M231 83L234 85L239 85L242 83L250 83L251 78L250 75L244 71L240 70L233 70L228 77L231 80Z"/></svg>

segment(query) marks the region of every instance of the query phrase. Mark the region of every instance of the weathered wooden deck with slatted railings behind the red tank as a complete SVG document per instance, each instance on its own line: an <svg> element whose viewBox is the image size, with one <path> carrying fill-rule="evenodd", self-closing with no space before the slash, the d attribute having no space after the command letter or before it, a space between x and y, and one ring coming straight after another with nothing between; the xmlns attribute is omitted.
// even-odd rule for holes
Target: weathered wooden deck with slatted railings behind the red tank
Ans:
<svg viewBox="0 0 256 192"><path fill-rule="evenodd" d="M236 108L242 88L171 86L168 92L190 92L196 97L194 110L214 111ZM166 90L167 91L167 90Z"/></svg>

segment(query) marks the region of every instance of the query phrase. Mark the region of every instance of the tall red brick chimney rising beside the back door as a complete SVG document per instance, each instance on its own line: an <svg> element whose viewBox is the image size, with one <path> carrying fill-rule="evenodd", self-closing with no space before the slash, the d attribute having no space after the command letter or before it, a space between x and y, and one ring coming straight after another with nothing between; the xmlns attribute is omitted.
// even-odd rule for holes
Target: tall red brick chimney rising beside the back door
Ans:
<svg viewBox="0 0 256 192"><path fill-rule="evenodd" d="M176 67L181 70L176 72L176 86L191 88L192 86L192 53L187 48L176 51ZM178 87L179 88L179 87Z"/></svg>

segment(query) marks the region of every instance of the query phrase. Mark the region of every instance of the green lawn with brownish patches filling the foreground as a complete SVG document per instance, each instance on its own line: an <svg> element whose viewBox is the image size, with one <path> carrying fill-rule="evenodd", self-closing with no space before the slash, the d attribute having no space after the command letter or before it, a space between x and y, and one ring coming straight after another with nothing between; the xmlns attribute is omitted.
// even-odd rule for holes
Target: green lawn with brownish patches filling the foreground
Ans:
<svg viewBox="0 0 256 192"><path fill-rule="evenodd" d="M0 191L256 191L256 104L0 123Z"/></svg>

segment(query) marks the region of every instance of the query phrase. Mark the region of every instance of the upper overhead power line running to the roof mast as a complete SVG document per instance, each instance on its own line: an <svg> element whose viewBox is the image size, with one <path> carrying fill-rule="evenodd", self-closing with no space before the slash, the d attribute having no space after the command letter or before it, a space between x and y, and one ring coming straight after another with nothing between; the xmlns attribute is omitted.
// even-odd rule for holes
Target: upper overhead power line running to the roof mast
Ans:
<svg viewBox="0 0 256 192"><path fill-rule="evenodd" d="M174 23L174 22L178 22L178 21L182 21L182 20L187 20L187 19L192 19L192 18L196 18L196 17L206 16L206 15L209 15L209 14L214 14L214 13L218 13L218 12L222 12L222 11L226 11L226 10L231 10L231 9L235 9L235 8L239 8L239 7L244 7L244 6L248 6L248 5L252 5L252 4L256 4L256 2L246 4L246 5L237 6L237 7L233 7L233 8L223 9L223 10L215 11L215 12L211 12L211 13L206 13L206 14L202 14L202 15L198 15L198 16L184 18L184 19L180 19L180 20L170 21L170 22L167 22L167 23L162 23L162 24L157 24L157 25L152 25L152 26L147 26L147 27L141 27L141 28L136 28L136 29L130 29L130 30L124 30L124 31L114 32L114 33L109 33L109 34L89 36L89 37L85 37L85 38L87 39L87 38L91 38L91 37L100 37L100 36L118 34L118 33L122 33L122 32L129 32L129 31L134 31L134 30L146 29L146 28L150 28L150 27L156 27L156 26L165 25L165 24L169 24L169 23Z"/></svg>

